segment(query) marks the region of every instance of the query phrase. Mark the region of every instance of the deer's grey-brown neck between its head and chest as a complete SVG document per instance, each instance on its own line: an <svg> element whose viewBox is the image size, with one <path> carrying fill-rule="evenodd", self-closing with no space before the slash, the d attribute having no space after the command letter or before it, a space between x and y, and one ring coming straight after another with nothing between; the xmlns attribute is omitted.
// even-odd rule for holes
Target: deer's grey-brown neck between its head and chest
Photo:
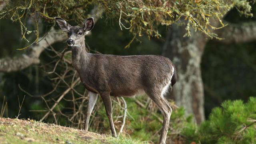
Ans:
<svg viewBox="0 0 256 144"><path fill-rule="evenodd" d="M86 67L89 61L89 53L86 52L85 43L81 46L72 46L72 64L74 68L79 72L81 68Z"/></svg>

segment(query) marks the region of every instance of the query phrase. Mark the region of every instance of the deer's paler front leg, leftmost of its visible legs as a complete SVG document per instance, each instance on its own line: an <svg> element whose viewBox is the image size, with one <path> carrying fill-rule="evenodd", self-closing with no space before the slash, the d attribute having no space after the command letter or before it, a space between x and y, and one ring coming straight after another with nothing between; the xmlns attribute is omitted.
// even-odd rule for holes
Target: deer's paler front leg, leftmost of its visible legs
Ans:
<svg viewBox="0 0 256 144"><path fill-rule="evenodd" d="M84 130L85 131L88 131L88 124L89 124L90 116L92 114L92 110L97 101L97 98L98 98L98 94L90 92L89 102L88 102L88 106L87 106L86 120L84 122Z"/></svg>

